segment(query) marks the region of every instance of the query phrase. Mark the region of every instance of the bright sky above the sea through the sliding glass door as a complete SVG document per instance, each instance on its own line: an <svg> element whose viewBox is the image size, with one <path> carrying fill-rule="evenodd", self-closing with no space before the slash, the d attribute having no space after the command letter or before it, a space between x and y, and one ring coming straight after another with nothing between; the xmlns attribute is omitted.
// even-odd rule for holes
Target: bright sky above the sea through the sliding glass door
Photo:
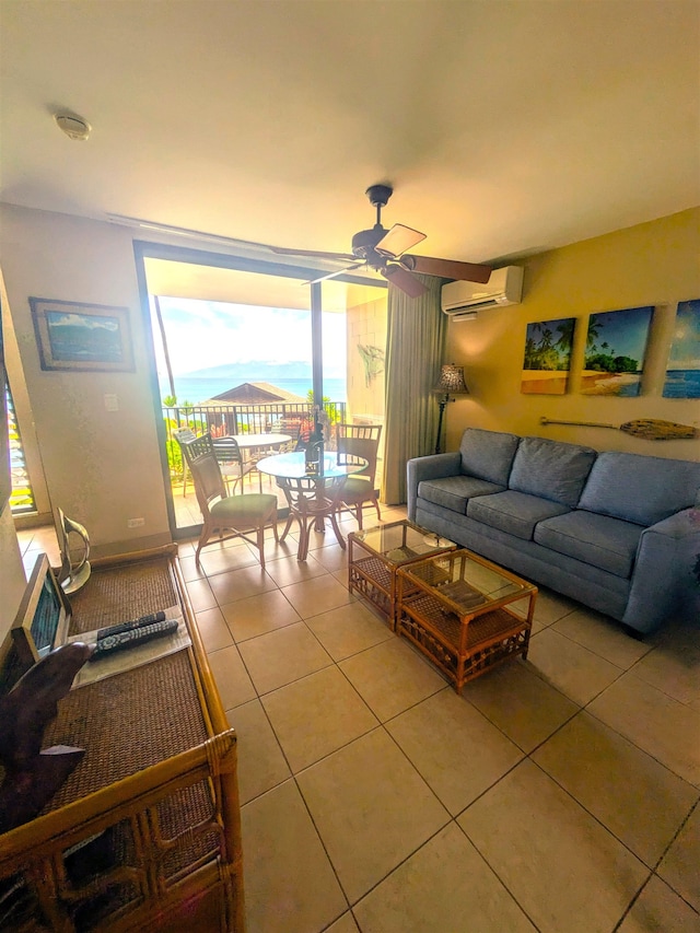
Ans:
<svg viewBox="0 0 700 933"><path fill-rule="evenodd" d="M311 365L311 312L195 299L161 298L173 372L184 375L224 363L261 360ZM154 325L159 371L160 333ZM346 374L346 316L323 315L324 373Z"/></svg>

